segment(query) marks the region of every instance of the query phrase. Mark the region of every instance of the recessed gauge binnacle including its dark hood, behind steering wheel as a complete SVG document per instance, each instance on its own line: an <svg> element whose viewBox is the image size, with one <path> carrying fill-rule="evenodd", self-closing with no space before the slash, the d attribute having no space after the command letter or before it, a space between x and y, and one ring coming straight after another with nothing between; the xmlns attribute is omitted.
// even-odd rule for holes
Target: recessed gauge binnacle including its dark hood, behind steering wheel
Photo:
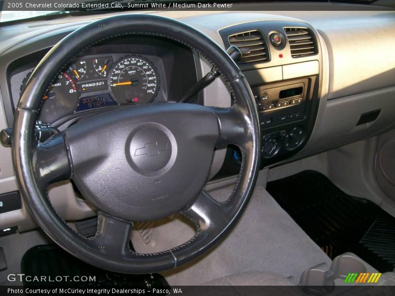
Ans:
<svg viewBox="0 0 395 296"><path fill-rule="evenodd" d="M20 66L26 59L30 57L14 62L9 77L13 108L34 71ZM188 48L160 38L120 38L90 47L48 85L38 119L58 126L102 108L177 101L197 80L194 59Z"/></svg>

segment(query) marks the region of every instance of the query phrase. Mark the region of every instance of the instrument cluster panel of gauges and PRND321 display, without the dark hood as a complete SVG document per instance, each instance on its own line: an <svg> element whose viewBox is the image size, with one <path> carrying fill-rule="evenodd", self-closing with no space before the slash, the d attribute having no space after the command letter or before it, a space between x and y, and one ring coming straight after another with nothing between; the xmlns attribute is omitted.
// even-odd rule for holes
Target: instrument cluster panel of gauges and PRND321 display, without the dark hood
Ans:
<svg viewBox="0 0 395 296"><path fill-rule="evenodd" d="M22 81L22 95L30 71ZM59 73L43 96L39 119L53 123L80 111L116 105L148 104L155 101L163 65L160 58L146 55L102 54L82 56Z"/></svg>

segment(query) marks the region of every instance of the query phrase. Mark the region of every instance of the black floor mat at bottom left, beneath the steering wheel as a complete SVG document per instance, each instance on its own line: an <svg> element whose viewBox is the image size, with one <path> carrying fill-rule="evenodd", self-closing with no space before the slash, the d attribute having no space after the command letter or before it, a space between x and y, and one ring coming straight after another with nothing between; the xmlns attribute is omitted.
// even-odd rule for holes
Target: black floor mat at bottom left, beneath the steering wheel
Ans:
<svg viewBox="0 0 395 296"><path fill-rule="evenodd" d="M21 271L25 274L24 278L29 279L23 282L25 287L169 287L166 280L157 273L131 275L106 271L75 258L56 245L35 246L29 249L22 258ZM35 281L35 276L46 276L45 282ZM89 280L90 276L95 277L95 280Z"/></svg>

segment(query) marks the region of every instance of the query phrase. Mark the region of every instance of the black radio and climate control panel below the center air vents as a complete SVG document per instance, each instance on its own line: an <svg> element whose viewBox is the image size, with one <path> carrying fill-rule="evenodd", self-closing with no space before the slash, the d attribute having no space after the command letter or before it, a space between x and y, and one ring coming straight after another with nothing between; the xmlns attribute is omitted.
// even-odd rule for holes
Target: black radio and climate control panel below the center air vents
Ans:
<svg viewBox="0 0 395 296"><path fill-rule="evenodd" d="M263 165L283 160L306 144L315 119L316 81L316 76L310 76L252 87L261 126Z"/></svg>

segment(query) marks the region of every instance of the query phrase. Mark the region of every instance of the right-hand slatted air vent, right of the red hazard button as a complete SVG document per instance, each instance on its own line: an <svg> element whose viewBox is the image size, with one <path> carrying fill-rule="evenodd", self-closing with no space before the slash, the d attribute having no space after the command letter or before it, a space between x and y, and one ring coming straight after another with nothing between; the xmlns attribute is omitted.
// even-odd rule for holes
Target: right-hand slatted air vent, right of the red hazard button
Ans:
<svg viewBox="0 0 395 296"><path fill-rule="evenodd" d="M305 57L317 53L317 44L313 33L304 28L284 28L291 47L293 58Z"/></svg>

